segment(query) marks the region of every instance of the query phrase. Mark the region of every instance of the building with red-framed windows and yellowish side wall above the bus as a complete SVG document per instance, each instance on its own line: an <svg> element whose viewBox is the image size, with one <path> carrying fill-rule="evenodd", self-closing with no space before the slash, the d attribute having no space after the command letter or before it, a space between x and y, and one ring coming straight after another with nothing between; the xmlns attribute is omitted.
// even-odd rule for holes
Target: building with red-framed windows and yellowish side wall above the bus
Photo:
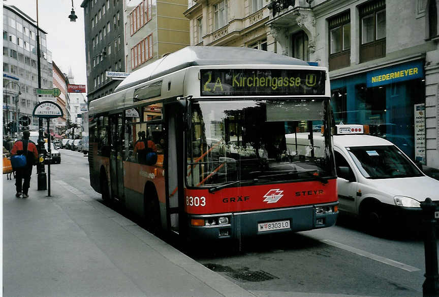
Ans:
<svg viewBox="0 0 439 297"><path fill-rule="evenodd" d="M190 45L187 0L127 0L124 8L128 72Z"/></svg>

